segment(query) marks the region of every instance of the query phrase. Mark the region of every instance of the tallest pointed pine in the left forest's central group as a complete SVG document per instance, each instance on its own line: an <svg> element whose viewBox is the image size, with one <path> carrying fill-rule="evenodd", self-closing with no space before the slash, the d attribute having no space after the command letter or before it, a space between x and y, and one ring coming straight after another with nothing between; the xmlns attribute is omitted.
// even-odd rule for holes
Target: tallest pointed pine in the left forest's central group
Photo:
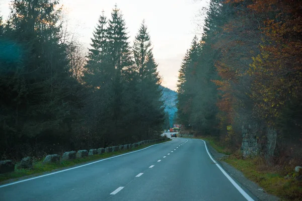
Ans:
<svg viewBox="0 0 302 201"><path fill-rule="evenodd" d="M106 65L108 65L107 72L110 74L107 92L111 94L107 112L112 121L108 125L108 130L112 133L111 139L118 139L118 135L123 133L123 127L127 124L123 119L127 109L126 103L123 101L127 82L125 71L131 67L133 62L125 22L117 6L111 13L106 35L108 41Z"/></svg>

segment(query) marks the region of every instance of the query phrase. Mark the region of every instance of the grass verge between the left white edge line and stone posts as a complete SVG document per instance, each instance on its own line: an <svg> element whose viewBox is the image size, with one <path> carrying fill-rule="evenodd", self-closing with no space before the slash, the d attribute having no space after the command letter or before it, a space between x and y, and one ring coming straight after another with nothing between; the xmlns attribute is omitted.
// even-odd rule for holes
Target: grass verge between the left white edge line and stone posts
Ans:
<svg viewBox="0 0 302 201"><path fill-rule="evenodd" d="M159 143L163 143L163 142L167 142L167 141L170 141L170 139L159 142ZM34 161L32 169L18 169L17 168L18 164L16 164L14 172L0 174L0 183L3 184L6 182L9 182L9 181L12 181L12 180L17 180L20 177L29 177L29 176L33 176L33 175L36 176L36 175L41 175L41 174L43 174L45 172L49 172L49 171L58 171L58 170L66 168L66 167L71 167L71 166L75 166L75 165L79 165L79 164L83 164L83 163L87 163L87 162L92 162L92 161L96 161L96 160L100 160L100 159L104 159L104 158L109 158L112 156L121 155L121 154L124 154L127 152L135 151L138 149L143 149L150 145L159 144L159 143L144 144L144 145L140 145L133 149L121 150L121 151L116 151L116 152L111 152L111 153L103 153L100 155L87 156L85 158L77 158L77 159L68 160L68 161L61 161L59 163L43 164L43 160L44 160L43 159L43 160L39 160L39 161Z"/></svg>

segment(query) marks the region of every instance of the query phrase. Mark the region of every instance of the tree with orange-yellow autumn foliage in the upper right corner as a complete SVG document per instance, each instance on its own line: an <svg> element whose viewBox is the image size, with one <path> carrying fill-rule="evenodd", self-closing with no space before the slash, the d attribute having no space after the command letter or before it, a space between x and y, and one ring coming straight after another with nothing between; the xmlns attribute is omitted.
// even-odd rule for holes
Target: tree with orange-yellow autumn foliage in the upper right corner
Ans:
<svg viewBox="0 0 302 201"><path fill-rule="evenodd" d="M253 99L270 123L287 102L302 98L302 2L266 0L249 8L263 15L260 54L253 57Z"/></svg>

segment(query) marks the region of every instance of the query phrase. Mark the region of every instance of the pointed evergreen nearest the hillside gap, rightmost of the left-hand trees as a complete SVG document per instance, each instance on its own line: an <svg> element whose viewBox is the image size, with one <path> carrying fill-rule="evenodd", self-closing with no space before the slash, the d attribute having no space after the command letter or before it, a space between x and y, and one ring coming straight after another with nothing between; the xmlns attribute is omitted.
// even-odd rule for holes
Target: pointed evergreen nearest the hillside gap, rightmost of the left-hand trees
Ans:
<svg viewBox="0 0 302 201"><path fill-rule="evenodd" d="M143 139L160 132L165 118L158 64L152 53L150 36L144 21L134 39L133 54L134 73L137 76L136 102L139 103L136 115L140 123L140 139Z"/></svg>

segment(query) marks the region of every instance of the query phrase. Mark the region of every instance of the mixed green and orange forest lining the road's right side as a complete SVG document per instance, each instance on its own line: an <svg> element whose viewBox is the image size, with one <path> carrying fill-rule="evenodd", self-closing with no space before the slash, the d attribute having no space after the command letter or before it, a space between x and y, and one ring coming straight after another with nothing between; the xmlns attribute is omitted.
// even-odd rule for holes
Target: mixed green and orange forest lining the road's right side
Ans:
<svg viewBox="0 0 302 201"><path fill-rule="evenodd" d="M302 164L301 8L210 1L179 71L178 120L188 132L285 169Z"/></svg>

